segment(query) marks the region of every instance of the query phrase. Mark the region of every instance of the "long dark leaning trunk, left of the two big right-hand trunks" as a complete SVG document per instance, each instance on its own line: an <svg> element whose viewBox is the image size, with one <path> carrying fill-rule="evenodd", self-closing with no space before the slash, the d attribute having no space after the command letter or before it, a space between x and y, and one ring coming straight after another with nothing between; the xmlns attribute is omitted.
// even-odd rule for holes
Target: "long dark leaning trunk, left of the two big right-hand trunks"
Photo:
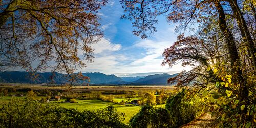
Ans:
<svg viewBox="0 0 256 128"><path fill-rule="evenodd" d="M225 21L225 12L219 2L214 2L216 9L219 14L219 26L225 37L225 42L228 47L228 52L230 56L231 69L232 73L234 73L233 80L240 84L240 98L242 100L246 100L248 96L248 89L246 87L245 80L243 78L243 73L241 70L241 63L239 60L239 55L236 47L236 42L231 31L228 29L226 21Z"/></svg>

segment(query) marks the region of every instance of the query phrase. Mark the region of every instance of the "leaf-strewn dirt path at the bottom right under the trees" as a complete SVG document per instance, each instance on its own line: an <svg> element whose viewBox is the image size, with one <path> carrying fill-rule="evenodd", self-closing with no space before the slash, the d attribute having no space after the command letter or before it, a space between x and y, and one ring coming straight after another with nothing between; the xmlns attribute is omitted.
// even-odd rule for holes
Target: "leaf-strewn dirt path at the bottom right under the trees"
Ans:
<svg viewBox="0 0 256 128"><path fill-rule="evenodd" d="M209 113L203 114L201 117L193 120L192 122L181 126L182 128L190 127L217 127L216 118L212 117Z"/></svg>

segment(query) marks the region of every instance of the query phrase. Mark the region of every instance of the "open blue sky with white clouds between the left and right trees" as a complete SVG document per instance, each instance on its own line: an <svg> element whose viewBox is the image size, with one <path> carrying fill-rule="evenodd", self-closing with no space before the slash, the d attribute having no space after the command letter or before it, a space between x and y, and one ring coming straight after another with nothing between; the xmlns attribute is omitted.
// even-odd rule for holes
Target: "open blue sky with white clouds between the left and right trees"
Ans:
<svg viewBox="0 0 256 128"><path fill-rule="evenodd" d="M132 34L134 28L129 20L120 19L123 9L119 1L112 0L100 11L101 29L104 37L93 44L94 63L77 72L101 72L117 76L150 75L155 73L177 73L189 67L175 65L161 66L162 53L175 41L175 24L168 24L166 18L159 17L157 32L147 39Z"/></svg>

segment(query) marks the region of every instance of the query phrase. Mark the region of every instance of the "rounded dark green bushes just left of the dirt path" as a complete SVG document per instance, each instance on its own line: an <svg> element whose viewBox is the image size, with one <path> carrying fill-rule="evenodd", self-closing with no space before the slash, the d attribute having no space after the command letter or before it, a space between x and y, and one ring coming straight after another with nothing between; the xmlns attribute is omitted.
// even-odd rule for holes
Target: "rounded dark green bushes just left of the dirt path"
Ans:
<svg viewBox="0 0 256 128"><path fill-rule="evenodd" d="M197 109L192 108L184 96L185 90L168 98L165 108L142 106L139 113L130 119L129 125L131 127L179 127L190 122L196 117Z"/></svg>

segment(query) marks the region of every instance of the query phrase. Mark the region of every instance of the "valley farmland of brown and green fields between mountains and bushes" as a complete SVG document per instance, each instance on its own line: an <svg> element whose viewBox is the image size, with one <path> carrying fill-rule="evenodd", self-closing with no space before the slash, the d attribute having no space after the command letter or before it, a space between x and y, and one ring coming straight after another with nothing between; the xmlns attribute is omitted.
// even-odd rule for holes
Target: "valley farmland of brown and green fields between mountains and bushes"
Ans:
<svg viewBox="0 0 256 128"><path fill-rule="evenodd" d="M0 86L1 89L12 89L15 88L16 92L10 91L8 96L0 96L1 102L8 102L11 100L11 96L23 93L26 95L27 92L24 90L34 90L34 92L40 92L40 90L50 90L50 91L59 91L60 95L62 95L59 101L50 101L50 104L55 104L62 106L64 108L74 108L79 111L84 110L99 110L105 109L107 106L114 106L117 112L122 112L125 114L125 120L123 121L125 124L129 123L130 118L139 112L141 106L127 104L128 100L130 102L132 100L138 100L142 97L140 93L145 94L147 92L156 92L156 90L163 90L166 94L174 92L174 87L172 86L74 86L71 89L69 87L61 86L61 87L49 87L45 85L39 84L2 84ZM22 92L23 91L23 92ZM134 93L133 97L127 99L126 93L132 91ZM122 94L123 93L123 94ZM39 93L37 93L39 94ZM53 94L52 94L53 95ZM72 95L72 97L77 97L77 103L69 103L65 102L68 96ZM103 101L101 99L95 98L95 96L111 96L113 97L113 101ZM94 96L94 97L93 97ZM39 101L42 98L46 98L41 94L41 96L37 95L36 99ZM84 98L84 97L92 97L92 98ZM15 99L25 99L26 96L13 97ZM120 104L120 102L124 102ZM126 104L125 104L126 103ZM164 107L164 104L154 105L153 107Z"/></svg>

